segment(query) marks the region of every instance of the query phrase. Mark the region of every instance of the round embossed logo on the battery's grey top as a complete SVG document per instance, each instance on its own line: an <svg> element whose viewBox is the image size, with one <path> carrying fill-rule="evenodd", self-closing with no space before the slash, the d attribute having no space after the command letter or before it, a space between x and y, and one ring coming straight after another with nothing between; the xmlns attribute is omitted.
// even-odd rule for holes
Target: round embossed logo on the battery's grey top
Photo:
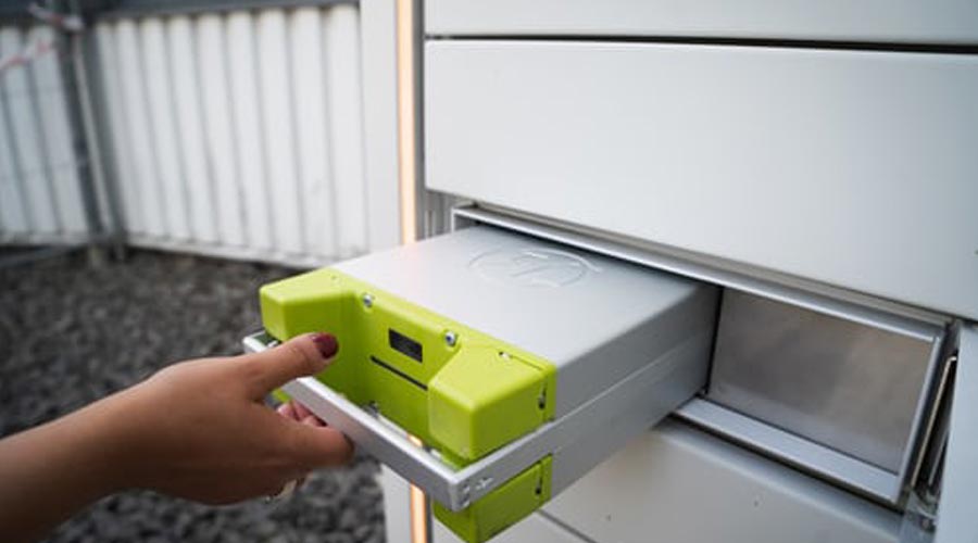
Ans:
<svg viewBox="0 0 978 543"><path fill-rule="evenodd" d="M542 248L490 251L468 266L490 281L531 288L565 287L601 272L574 253Z"/></svg>

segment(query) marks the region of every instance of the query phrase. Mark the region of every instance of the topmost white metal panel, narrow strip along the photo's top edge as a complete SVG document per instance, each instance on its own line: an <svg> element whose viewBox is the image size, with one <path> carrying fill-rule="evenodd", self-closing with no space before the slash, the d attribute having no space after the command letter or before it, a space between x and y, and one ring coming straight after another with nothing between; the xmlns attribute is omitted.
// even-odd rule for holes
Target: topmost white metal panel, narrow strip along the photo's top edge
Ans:
<svg viewBox="0 0 978 543"><path fill-rule="evenodd" d="M444 35L613 35L978 42L973 0L426 0Z"/></svg>

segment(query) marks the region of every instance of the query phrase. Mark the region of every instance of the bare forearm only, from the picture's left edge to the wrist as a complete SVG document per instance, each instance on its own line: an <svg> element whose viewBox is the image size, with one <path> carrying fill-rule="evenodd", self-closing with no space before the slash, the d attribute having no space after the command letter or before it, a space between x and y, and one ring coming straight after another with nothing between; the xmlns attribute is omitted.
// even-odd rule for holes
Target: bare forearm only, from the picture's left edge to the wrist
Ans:
<svg viewBox="0 0 978 543"><path fill-rule="evenodd" d="M35 541L122 485L110 397L0 440L0 533Z"/></svg>

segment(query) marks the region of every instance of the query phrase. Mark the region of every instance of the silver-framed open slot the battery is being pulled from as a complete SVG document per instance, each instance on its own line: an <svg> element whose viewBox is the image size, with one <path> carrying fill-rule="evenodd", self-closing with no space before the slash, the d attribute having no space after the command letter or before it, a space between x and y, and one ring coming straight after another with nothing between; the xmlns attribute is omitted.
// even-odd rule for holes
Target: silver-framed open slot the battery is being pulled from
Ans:
<svg viewBox="0 0 978 543"><path fill-rule="evenodd" d="M709 384L676 411L679 418L895 507L926 478L923 466L933 469L926 442L940 426L956 349L943 324L489 210L459 207L454 222L560 240L722 287Z"/></svg>

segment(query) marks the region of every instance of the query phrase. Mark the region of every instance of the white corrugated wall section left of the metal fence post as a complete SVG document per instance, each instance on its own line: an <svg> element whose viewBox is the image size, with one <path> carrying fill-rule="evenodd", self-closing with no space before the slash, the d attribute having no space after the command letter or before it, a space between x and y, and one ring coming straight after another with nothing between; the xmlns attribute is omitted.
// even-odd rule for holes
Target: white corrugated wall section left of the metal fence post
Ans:
<svg viewBox="0 0 978 543"><path fill-rule="evenodd" d="M50 27L0 27L0 243L87 238L54 46Z"/></svg>

